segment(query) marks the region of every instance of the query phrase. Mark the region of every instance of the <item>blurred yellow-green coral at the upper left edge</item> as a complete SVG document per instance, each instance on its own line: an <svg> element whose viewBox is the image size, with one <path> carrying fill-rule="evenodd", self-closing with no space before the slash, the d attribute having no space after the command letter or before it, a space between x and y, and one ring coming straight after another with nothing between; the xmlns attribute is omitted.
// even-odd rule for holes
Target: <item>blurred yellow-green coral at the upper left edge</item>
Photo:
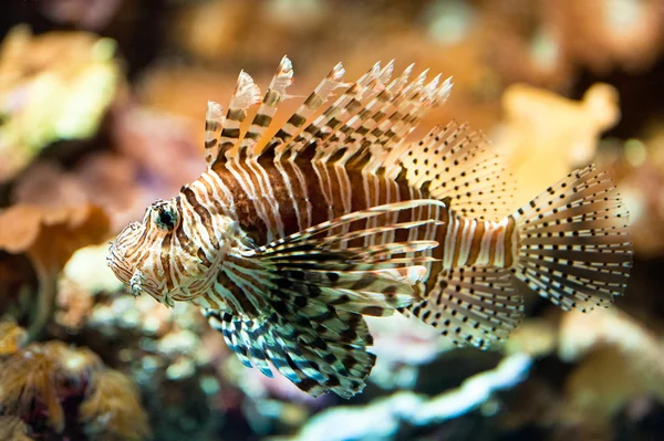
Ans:
<svg viewBox="0 0 664 441"><path fill-rule="evenodd" d="M10 32L0 48L0 182L51 143L95 134L120 82L114 51L112 40L83 32Z"/></svg>

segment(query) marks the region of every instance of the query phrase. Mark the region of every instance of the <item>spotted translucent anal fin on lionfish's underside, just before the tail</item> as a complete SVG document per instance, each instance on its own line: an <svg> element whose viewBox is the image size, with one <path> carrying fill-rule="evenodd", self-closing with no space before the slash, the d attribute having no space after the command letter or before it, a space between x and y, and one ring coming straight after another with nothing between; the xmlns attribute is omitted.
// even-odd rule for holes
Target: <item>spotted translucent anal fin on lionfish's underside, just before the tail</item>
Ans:
<svg viewBox="0 0 664 441"><path fill-rule="evenodd" d="M507 338L523 318L522 297L509 270L459 267L443 271L423 302L408 307L457 346L489 348Z"/></svg>

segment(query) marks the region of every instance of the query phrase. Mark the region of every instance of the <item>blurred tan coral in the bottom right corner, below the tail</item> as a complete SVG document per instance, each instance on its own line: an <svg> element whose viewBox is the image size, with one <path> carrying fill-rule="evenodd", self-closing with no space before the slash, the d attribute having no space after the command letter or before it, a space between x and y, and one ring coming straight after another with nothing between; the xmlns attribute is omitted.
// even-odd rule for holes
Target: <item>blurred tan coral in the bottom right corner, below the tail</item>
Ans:
<svg viewBox="0 0 664 441"><path fill-rule="evenodd" d="M606 434L631 402L652 396L664 403L664 346L618 308L562 315L557 351L561 360L579 365L566 379L556 411L561 433Z"/></svg>

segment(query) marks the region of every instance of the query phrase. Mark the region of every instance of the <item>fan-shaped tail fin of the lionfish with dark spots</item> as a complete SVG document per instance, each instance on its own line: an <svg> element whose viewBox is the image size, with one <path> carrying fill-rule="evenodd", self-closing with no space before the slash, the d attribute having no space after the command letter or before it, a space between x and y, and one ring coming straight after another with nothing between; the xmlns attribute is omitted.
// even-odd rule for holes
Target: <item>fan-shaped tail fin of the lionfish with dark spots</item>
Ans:
<svg viewBox="0 0 664 441"><path fill-rule="evenodd" d="M519 231L517 279L563 309L608 306L632 266L629 213L611 176L590 166L512 216Z"/></svg>

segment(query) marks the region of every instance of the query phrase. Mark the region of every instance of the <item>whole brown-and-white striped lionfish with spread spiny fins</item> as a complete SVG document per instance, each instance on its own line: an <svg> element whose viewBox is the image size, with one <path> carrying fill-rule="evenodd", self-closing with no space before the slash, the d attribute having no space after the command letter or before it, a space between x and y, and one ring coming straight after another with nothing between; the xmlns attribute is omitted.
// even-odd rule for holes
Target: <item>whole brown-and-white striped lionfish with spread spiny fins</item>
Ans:
<svg viewBox="0 0 664 441"><path fill-rule="evenodd" d="M241 72L226 113L208 103L207 170L120 233L115 275L201 307L246 366L344 398L375 361L365 315L396 309L488 348L523 318L518 281L563 309L623 293L632 244L609 172L573 171L510 213L511 178L480 134L408 137L450 78L393 69L344 83L338 64L279 128L291 62L262 98Z"/></svg>

